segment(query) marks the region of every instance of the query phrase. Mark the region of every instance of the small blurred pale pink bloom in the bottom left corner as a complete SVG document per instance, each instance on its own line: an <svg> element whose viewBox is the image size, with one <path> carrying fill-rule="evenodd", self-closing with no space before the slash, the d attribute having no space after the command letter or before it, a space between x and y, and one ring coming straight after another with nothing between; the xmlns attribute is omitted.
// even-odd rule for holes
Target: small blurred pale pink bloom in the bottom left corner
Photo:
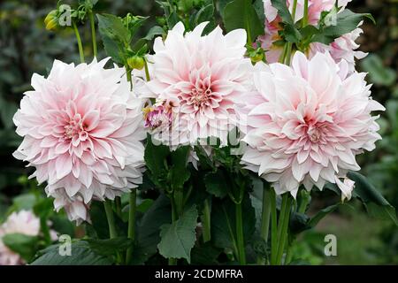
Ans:
<svg viewBox="0 0 398 283"><path fill-rule="evenodd" d="M20 265L24 260L7 246L2 238L10 233L23 233L28 236L38 236L40 233L40 219L30 210L13 212L0 226L0 265Z"/></svg>

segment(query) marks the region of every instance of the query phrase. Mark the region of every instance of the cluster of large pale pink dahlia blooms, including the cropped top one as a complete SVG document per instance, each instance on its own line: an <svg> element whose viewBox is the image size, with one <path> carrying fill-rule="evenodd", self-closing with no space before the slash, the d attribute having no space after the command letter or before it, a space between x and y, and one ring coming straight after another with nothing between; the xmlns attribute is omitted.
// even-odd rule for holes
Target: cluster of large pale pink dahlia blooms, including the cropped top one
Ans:
<svg viewBox="0 0 398 283"><path fill-rule="evenodd" d="M295 21L303 17L303 2ZM339 11L348 2L339 1ZM310 24L334 4L310 0ZM145 58L149 77L134 77L133 90L124 68L104 67L108 58L80 65L56 60L47 78L34 74L34 90L15 114L24 139L14 157L35 168L31 177L46 182L56 210L80 223L89 221L93 200L113 200L142 183L147 132L176 149L209 137L225 146L239 127L248 144L241 164L277 194L295 196L301 185L322 189L331 182L349 199L354 183L347 172L359 170L356 155L380 139L372 111L384 110L371 99L365 74L355 70L355 58L364 57L355 42L362 31L330 45L311 43L308 54L296 51L291 65L282 65L275 44L280 18L271 0L264 0L264 11L259 40L269 65L245 57L244 29L203 34L207 22L190 32L179 22L165 39L157 37Z"/></svg>

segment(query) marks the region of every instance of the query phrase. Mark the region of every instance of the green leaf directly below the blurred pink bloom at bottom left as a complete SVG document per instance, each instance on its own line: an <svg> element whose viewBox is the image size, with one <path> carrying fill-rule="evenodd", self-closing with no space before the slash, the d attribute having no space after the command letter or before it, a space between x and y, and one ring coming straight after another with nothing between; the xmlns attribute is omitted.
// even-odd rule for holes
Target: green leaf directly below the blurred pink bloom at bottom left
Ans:
<svg viewBox="0 0 398 283"><path fill-rule="evenodd" d="M9 249L18 253L26 261L30 261L36 253L39 238L23 233L8 233L1 240Z"/></svg>

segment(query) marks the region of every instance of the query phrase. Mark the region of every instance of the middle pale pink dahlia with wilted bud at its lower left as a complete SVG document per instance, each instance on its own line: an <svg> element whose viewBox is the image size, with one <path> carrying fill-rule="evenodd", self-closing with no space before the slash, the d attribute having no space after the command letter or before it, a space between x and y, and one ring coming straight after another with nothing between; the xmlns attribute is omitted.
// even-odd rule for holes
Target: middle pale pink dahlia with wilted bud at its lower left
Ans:
<svg viewBox="0 0 398 283"><path fill-rule="evenodd" d="M244 58L245 31L224 35L216 27L202 35L206 25L184 34L184 25L178 23L165 42L157 37L155 54L149 57L153 71L148 87L157 104L172 113L170 123L163 123L155 138L172 147L210 136L226 144L227 133L235 125L234 103L251 88L252 65Z"/></svg>

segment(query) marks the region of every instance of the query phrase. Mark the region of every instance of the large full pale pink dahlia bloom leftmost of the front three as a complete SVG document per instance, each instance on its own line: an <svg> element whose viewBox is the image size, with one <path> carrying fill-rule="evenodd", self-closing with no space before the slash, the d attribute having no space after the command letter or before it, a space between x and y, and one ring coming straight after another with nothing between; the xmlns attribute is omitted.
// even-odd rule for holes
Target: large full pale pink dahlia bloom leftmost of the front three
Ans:
<svg viewBox="0 0 398 283"><path fill-rule="evenodd" d="M67 65L54 61L48 78L32 77L14 116L24 137L14 157L29 162L39 183L71 220L89 220L91 200L113 199L142 182L145 131L142 100L123 68L108 59Z"/></svg>

